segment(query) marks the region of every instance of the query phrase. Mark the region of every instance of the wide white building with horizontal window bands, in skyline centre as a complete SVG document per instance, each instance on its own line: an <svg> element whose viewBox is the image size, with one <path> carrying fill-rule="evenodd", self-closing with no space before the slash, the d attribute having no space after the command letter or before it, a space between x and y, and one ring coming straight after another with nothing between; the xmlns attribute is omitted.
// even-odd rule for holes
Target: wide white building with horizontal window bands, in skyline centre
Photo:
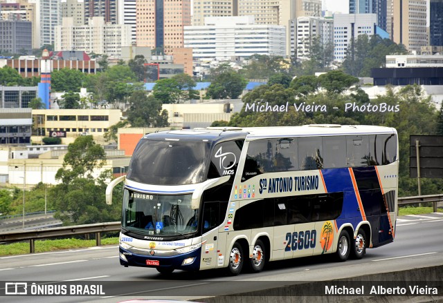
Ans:
<svg viewBox="0 0 443 303"><path fill-rule="evenodd" d="M185 26L185 48L196 59L241 59L286 55L286 27L257 24L253 16L208 17L205 26Z"/></svg>

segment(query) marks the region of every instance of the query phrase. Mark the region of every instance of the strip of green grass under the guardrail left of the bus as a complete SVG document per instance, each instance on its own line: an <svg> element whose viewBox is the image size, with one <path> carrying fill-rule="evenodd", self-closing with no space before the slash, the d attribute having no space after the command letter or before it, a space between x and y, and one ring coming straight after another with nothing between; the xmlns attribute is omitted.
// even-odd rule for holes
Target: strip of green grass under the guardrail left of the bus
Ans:
<svg viewBox="0 0 443 303"><path fill-rule="evenodd" d="M118 244L118 237L102 239L102 245ZM65 249L85 248L96 246L96 240L63 239L35 240L35 252L62 251ZM29 253L29 242L17 242L0 245L0 255L23 255Z"/></svg>

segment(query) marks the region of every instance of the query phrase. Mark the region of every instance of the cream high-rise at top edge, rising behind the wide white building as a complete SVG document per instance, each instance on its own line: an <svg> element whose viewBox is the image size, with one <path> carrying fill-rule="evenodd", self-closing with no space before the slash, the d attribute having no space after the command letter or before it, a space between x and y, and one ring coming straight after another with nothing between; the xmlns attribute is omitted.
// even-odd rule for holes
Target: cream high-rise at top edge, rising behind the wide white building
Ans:
<svg viewBox="0 0 443 303"><path fill-rule="evenodd" d="M239 0L194 0L192 6L192 25L203 26L206 17L237 16L238 1Z"/></svg>

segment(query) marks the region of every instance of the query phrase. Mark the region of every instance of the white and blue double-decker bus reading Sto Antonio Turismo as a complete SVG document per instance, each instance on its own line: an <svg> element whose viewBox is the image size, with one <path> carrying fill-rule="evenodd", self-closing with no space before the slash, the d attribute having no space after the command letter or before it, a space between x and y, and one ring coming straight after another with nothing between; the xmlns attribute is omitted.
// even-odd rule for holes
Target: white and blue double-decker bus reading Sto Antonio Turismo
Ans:
<svg viewBox="0 0 443 303"><path fill-rule="evenodd" d="M394 128L309 125L145 135L124 180L120 264L260 272L274 260L359 259L395 237Z"/></svg>

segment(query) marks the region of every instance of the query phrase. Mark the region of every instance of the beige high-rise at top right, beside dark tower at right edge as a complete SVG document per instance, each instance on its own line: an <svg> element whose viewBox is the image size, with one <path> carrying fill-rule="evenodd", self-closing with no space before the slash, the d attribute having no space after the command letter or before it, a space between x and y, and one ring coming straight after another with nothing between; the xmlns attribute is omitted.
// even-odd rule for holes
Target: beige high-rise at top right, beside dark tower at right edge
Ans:
<svg viewBox="0 0 443 303"><path fill-rule="evenodd" d="M393 1L393 36L408 50L419 51L428 45L426 32L426 0Z"/></svg>

